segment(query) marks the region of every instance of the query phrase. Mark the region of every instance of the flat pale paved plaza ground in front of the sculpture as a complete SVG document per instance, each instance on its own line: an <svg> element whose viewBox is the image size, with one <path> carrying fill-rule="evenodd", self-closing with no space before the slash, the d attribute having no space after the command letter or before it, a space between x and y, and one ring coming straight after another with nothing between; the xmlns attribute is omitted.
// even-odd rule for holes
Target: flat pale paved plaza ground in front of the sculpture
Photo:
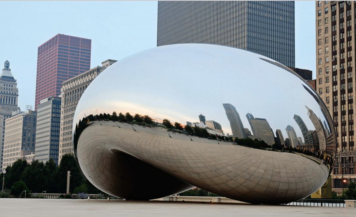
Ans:
<svg viewBox="0 0 356 217"><path fill-rule="evenodd" d="M1 217L42 216L356 216L356 208L210 204L168 201L0 199Z"/></svg>

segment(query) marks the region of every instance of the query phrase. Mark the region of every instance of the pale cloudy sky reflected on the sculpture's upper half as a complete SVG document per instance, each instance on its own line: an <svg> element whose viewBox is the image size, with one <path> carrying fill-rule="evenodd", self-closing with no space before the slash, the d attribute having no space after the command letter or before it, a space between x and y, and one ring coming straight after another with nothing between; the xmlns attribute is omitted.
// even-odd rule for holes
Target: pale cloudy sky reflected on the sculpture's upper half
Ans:
<svg viewBox="0 0 356 217"><path fill-rule="evenodd" d="M300 115L306 128L315 130L306 105L324 123L326 118L315 101L317 95L294 72L266 60L273 61L216 45L169 45L147 50L119 61L95 78L81 97L76 116L130 112L185 124L198 122L202 113L231 135L222 107L229 102L240 114L245 133L252 131L245 116L251 113L268 120L272 134L281 129L282 136L288 138L285 129L290 125L304 138L293 116Z"/></svg>

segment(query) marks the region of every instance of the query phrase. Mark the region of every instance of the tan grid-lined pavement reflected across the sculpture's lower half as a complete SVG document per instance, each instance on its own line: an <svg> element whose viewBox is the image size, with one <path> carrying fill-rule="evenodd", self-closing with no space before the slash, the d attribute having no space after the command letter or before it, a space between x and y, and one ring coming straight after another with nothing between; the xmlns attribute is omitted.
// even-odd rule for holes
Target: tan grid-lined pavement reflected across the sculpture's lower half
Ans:
<svg viewBox="0 0 356 217"><path fill-rule="evenodd" d="M115 157L112 150L128 153L194 186L254 203L284 203L306 197L317 190L328 175L324 165L311 164L310 159L298 154L221 146L216 140L198 137L190 141L184 134L171 134L173 138L169 138L166 129L135 126L137 131L133 131L130 124L101 123L102 126L96 123L88 126L78 142L80 166L94 183L103 182L93 181L101 179L100 172L95 178L90 175L103 163L100 159L93 163L98 149L114 155L112 157ZM99 147L100 143L105 145ZM89 154L87 150L90 150ZM89 157L84 159L85 155ZM105 168L116 169L110 165ZM111 177L115 172L104 173L105 182L115 180ZM110 186L120 188L115 183Z"/></svg>

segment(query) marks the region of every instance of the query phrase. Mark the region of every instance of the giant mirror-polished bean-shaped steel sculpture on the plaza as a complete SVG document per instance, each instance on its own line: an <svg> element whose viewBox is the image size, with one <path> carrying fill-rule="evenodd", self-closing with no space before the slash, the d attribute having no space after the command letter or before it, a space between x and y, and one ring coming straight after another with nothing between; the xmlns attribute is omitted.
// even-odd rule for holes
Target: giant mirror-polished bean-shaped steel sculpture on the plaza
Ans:
<svg viewBox="0 0 356 217"><path fill-rule="evenodd" d="M272 59L219 45L118 61L85 90L73 121L84 175L125 199L197 186L287 203L320 188L334 163L334 126L315 91Z"/></svg>

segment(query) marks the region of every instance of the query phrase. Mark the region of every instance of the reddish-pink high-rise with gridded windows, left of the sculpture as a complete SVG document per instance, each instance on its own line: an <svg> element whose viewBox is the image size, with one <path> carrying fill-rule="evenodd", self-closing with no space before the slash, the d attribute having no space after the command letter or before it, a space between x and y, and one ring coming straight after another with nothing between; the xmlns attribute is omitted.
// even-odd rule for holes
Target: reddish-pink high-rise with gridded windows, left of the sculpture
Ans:
<svg viewBox="0 0 356 217"><path fill-rule="evenodd" d="M57 34L38 47L36 101L61 94L62 82L90 69L91 40Z"/></svg>

